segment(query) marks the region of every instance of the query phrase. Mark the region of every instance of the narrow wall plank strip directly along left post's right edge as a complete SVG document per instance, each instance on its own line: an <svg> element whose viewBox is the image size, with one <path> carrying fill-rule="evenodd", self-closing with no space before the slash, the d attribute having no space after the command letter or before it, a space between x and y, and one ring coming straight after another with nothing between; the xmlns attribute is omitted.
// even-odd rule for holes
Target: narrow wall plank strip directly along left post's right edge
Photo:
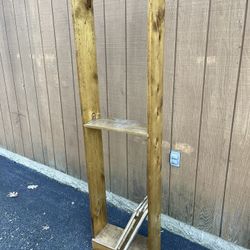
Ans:
<svg viewBox="0 0 250 250"><path fill-rule="evenodd" d="M103 118L108 117L106 37L105 37L105 1L94 1L94 19L96 34L97 70L100 91L100 109ZM104 170L106 189L110 191L109 132L102 131Z"/></svg>

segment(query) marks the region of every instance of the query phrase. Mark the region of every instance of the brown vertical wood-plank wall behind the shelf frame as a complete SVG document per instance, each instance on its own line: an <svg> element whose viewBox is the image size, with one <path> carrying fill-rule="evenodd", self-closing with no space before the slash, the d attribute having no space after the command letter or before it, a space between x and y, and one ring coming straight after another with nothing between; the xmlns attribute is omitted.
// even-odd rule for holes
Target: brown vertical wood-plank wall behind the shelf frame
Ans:
<svg viewBox="0 0 250 250"><path fill-rule="evenodd" d="M104 117L146 121L146 4L94 1ZM248 0L168 0L165 41L164 212L250 247ZM107 189L141 200L146 142L103 137ZM82 138L70 1L0 0L0 144L85 179Z"/></svg>

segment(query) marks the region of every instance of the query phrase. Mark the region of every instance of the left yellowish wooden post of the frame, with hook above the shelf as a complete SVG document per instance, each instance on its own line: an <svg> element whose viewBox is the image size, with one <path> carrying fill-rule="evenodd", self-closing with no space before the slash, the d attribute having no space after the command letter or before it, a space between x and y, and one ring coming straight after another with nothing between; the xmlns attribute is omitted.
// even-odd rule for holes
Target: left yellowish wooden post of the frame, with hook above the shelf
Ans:
<svg viewBox="0 0 250 250"><path fill-rule="evenodd" d="M100 117L93 0L72 0L82 121ZM102 134L84 128L93 234L107 224Z"/></svg>

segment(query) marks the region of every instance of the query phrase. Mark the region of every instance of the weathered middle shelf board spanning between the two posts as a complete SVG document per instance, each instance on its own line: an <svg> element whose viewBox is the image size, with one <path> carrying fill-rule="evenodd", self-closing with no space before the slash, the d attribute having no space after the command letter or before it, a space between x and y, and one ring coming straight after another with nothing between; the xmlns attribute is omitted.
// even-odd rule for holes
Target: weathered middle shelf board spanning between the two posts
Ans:
<svg viewBox="0 0 250 250"><path fill-rule="evenodd" d="M137 136L147 137L146 127L141 126L137 121L122 119L97 119L84 124L85 128L105 129Z"/></svg>

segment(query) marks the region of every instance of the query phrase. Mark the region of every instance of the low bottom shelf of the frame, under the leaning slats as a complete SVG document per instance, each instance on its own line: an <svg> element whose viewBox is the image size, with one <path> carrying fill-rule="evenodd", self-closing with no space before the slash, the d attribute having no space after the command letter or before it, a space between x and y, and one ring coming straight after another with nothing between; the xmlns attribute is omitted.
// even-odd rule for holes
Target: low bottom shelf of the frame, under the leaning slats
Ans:
<svg viewBox="0 0 250 250"><path fill-rule="evenodd" d="M115 249L123 229L111 224L107 224L102 231L92 239L93 249L95 250L112 250ZM147 238L137 235L133 240L129 250L147 249Z"/></svg>

